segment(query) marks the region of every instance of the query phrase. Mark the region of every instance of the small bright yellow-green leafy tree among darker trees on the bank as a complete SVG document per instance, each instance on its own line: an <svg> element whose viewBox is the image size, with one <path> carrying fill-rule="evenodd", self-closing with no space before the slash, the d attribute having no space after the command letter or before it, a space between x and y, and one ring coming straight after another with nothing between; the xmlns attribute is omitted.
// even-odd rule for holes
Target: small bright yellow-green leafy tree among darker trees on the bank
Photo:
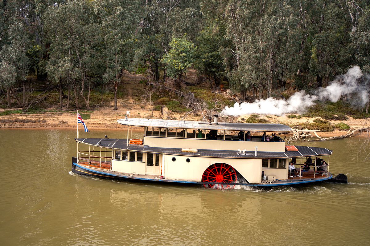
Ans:
<svg viewBox="0 0 370 246"><path fill-rule="evenodd" d="M162 59L166 64L167 75L181 79L182 74L193 64L194 44L184 35L182 38L173 38L169 46L168 54Z"/></svg>

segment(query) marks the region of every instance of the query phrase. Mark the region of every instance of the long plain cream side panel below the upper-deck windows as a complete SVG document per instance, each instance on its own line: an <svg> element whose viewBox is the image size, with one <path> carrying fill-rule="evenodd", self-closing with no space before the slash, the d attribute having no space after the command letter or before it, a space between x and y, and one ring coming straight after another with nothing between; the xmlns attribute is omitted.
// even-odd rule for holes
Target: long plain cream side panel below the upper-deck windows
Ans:
<svg viewBox="0 0 370 246"><path fill-rule="evenodd" d="M248 150L263 152L285 152L285 142L226 141L191 138L144 137L144 145L161 148L195 148L217 150Z"/></svg>

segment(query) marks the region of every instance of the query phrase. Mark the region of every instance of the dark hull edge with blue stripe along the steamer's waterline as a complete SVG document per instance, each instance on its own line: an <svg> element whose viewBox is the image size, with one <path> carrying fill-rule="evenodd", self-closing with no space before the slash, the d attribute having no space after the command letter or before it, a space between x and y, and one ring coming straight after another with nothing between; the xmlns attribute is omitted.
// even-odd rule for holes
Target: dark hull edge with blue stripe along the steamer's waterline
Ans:
<svg viewBox="0 0 370 246"><path fill-rule="evenodd" d="M131 180L131 181L150 181L150 182L164 182L164 183L183 183L183 184L207 184L206 182L196 182L196 181L183 181L183 180L166 180L166 179L149 179L149 178L141 178L141 177L132 177L132 176L126 176L126 175L120 175L120 174L112 174L112 173L106 173L104 171L97 171L88 169L86 167L80 166L77 163L73 163L74 166L79 167L83 170L75 170L74 167L72 167L72 171L74 173L78 174L84 174L84 175L93 175L97 177L106 177L111 179L124 179L124 180ZM310 180L300 180L300 181L285 181L285 183L278 183L278 184L248 184L248 183L231 183L229 185L239 185L239 186L255 186L255 187L273 187L273 186L292 186L292 185L299 185L299 184L308 184L308 183L314 183L314 182L322 182L329 179L332 179L333 175L330 174L329 177L323 177L321 179L310 179ZM223 184L225 183L212 183L212 184Z"/></svg>

